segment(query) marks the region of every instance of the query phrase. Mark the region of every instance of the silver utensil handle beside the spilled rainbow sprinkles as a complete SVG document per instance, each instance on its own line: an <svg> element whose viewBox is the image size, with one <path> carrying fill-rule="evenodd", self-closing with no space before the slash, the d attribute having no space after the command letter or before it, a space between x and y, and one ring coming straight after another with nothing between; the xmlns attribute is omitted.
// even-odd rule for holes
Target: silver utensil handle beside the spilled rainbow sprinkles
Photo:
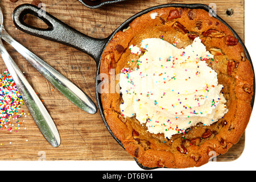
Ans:
<svg viewBox="0 0 256 182"><path fill-rule="evenodd" d="M1 39L0 51L3 61L5 62L11 77L13 77L22 99L28 107L30 114L34 118L36 125L38 125L44 137L53 147L59 146L60 136L55 123L52 121L51 116L40 101L39 97L36 95L32 86L29 84L23 73L15 64L14 60L6 51Z"/></svg>

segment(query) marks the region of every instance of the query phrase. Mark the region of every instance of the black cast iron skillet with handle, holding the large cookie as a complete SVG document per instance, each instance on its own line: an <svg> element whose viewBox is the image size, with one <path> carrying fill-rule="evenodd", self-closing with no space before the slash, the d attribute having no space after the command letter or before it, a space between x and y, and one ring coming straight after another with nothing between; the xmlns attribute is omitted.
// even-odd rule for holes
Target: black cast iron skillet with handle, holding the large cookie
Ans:
<svg viewBox="0 0 256 182"><path fill-rule="evenodd" d="M113 38L113 36L118 32L121 31L129 26L129 24L138 16L141 16L143 14L148 13L149 11L155 10L155 9L160 9L163 7L181 7L181 8L189 8L189 9L204 9L208 11L211 15L213 15L215 18L220 20L222 23L224 23L227 27L230 28L230 30L233 32L234 36L238 39L239 43L243 46L243 49L245 51L247 59L250 61L251 66L253 67L253 63L251 62L251 58L249 55L249 52L247 51L245 45L243 44L241 38L237 35L237 33L226 23L224 20L222 20L219 16L214 14L213 10L210 9L209 6L207 5L202 5L202 4L167 4L167 5L160 5L160 6L155 6L155 7L150 7L149 9L143 10L138 14L135 14L134 16L131 16L131 18L127 19L124 23L121 24L115 30L111 35L109 35L108 38L105 39L96 39L96 38L91 38L87 35L82 34L81 32L75 30L72 27L69 27L67 24L61 22L59 19L56 19L54 16L46 13L44 16L40 16L40 10L38 7L29 5L29 4L24 4L16 7L13 13L13 20L15 26L23 31L26 32L27 34L31 34L34 36L38 36L40 38L52 40L55 42L59 42L62 44L65 44L67 46L74 47L76 49L79 49L82 52L85 52L89 56L91 56L95 61L97 65L97 76L100 74L100 64L101 64L101 55L102 52L104 51L106 45L109 43L109 41ZM39 19L41 19L43 22L45 22L48 25L48 28L42 29L42 28L36 28L32 27L28 24L26 24L23 20L23 16L26 14L32 14L34 16L37 16ZM255 75L254 75L254 82L255 82ZM103 122L108 129L109 133L112 134L113 138L117 140L117 142L123 147L122 143L120 140L118 140L117 137L114 136L112 131L110 130L110 127L108 126L108 123L106 122L104 111L102 109L102 103L101 103L101 95L100 92L97 92L98 84L100 84L100 80L96 79L96 99L97 99L97 105L98 109L100 111L101 117L103 119ZM254 84L254 96L253 100L251 102L251 107L254 105L254 97L255 97L255 84ZM124 148L124 147L123 147ZM155 168L148 168L142 166L142 164L138 163L138 160L135 159L139 167L142 169L155 169ZM156 167L158 168L158 167Z"/></svg>

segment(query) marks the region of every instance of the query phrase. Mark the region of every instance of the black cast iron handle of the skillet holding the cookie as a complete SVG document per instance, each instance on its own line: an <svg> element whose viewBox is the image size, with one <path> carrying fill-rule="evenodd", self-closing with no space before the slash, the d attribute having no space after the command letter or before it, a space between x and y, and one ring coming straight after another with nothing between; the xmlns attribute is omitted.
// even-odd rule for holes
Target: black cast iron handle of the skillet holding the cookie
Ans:
<svg viewBox="0 0 256 182"><path fill-rule="evenodd" d="M36 16L46 23L48 28L38 28L25 23L23 19L27 14ZM67 24L61 22L59 19L50 15L46 11L30 4L23 4L16 7L13 13L13 21L19 30L26 32L27 34L79 49L80 51L91 56L97 64L101 57L101 53L103 51L102 49L105 47L108 40L108 38L96 39L84 35L74 28L69 27Z"/></svg>

